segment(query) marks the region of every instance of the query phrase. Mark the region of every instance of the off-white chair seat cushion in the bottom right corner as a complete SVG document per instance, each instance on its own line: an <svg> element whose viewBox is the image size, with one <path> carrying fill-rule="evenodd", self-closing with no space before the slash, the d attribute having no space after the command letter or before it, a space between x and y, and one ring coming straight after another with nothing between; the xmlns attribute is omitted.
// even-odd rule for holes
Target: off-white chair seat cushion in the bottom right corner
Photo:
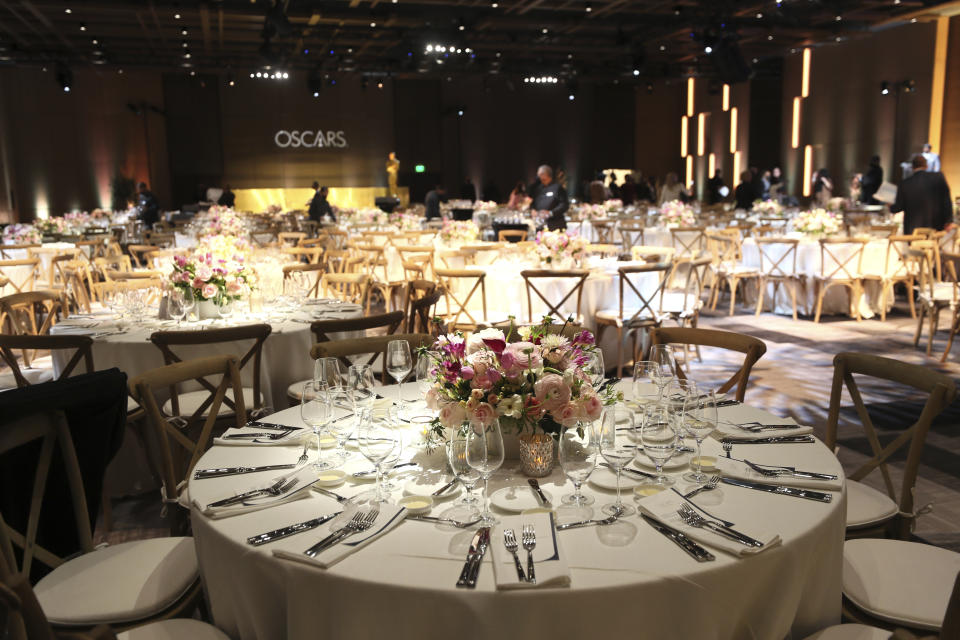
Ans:
<svg viewBox="0 0 960 640"><path fill-rule="evenodd" d="M928 544L863 538L843 545L843 595L901 626L939 630L958 572L960 553Z"/></svg>

